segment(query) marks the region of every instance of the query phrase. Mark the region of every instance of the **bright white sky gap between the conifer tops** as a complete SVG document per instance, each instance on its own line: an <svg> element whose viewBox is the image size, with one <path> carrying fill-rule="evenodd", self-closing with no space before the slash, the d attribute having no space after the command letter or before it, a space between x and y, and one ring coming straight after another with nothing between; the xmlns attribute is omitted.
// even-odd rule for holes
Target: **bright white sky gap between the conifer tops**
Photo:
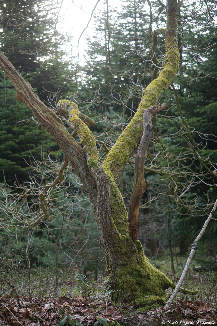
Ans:
<svg viewBox="0 0 217 326"><path fill-rule="evenodd" d="M63 0L59 18L59 28L62 34L67 33L72 36L72 42L68 46L72 48L73 54L77 57L77 42L84 28L87 26L91 16L91 12L97 0ZM109 0L109 6L120 7L121 0ZM104 0L101 0L96 10L104 11ZM93 17L92 17L93 20ZM84 65L85 49L87 48L86 36L94 34L93 23L88 25L88 28L83 33L79 41L79 64Z"/></svg>

